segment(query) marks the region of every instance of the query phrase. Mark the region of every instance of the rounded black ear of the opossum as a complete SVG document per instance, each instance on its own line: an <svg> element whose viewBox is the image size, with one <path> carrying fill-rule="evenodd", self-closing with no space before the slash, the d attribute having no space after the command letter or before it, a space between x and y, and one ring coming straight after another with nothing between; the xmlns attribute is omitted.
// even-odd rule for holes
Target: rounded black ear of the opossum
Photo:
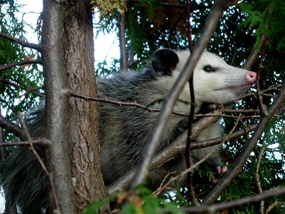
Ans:
<svg viewBox="0 0 285 214"><path fill-rule="evenodd" d="M170 49L159 49L152 56L152 68L155 72L167 76L172 76L179 58L175 51Z"/></svg>

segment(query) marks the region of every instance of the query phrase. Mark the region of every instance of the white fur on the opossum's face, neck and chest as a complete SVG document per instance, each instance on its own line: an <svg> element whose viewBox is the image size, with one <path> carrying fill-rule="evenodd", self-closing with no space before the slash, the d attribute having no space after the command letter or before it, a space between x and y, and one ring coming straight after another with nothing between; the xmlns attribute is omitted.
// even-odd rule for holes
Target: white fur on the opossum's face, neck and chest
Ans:
<svg viewBox="0 0 285 214"><path fill-rule="evenodd" d="M179 63L177 63L175 70L172 72L172 76L162 76L160 77L160 81L157 83L157 88L165 88L165 91L170 90L190 56L190 51L175 52L178 55ZM203 70L204 66L212 66L216 69L216 71L207 73ZM252 76L252 78L248 79L247 76L249 75ZM256 74L252 71L229 66L229 64L227 64L219 56L209 52L204 52L194 70L193 82L196 103L195 112L197 113L197 111L199 111L202 103L216 103L223 105L232 101L237 101L242 93L247 91L247 89L252 85L255 77ZM188 84L186 84L184 90L182 91L180 100L188 102L190 101ZM178 101L175 105L174 111L189 113L190 105ZM171 127L179 120L179 117L172 116L167 126ZM217 123L213 123L202 131L195 141L207 141L212 138L217 138L221 136L221 133L222 126L220 125L219 121L217 121ZM217 148L217 146L195 150L192 152L192 155L197 159L201 159L214 148Z"/></svg>

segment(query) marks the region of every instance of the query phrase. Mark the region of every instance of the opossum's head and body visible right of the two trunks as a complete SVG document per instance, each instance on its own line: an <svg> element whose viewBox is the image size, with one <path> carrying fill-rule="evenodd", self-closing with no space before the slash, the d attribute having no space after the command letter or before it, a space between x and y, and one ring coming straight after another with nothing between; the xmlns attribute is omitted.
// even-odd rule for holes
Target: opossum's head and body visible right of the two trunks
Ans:
<svg viewBox="0 0 285 214"><path fill-rule="evenodd" d="M152 67L145 69L138 75L121 74L116 78L100 80L98 93L100 96L117 101L136 101L142 105L149 105L153 101L160 101L170 91L180 71L182 71L189 51L172 51L160 49L152 56ZM235 68L225 63L222 58L204 52L194 72L194 88L196 113L200 111L202 103L224 104L235 101L254 83L256 74L242 68ZM190 104L181 101L190 101L188 86L175 105L175 111L190 112ZM161 102L152 106L160 108ZM133 168L141 158L153 124L158 113L149 113L136 107L118 108L109 103L99 103L99 128L102 171L105 183L113 183L115 179ZM185 126L186 125L186 126ZM172 115L160 142L160 151L165 148L187 127L187 118ZM108 130L105 132L105 130ZM205 141L220 136L222 128L219 122L212 124L202 131L196 141ZM207 155L216 146L192 151L192 155L199 160ZM216 154L208 163L217 165L219 156ZM152 172L148 183L153 187L170 172L181 173L186 169L184 157L177 157ZM182 180L184 178L181 178Z"/></svg>

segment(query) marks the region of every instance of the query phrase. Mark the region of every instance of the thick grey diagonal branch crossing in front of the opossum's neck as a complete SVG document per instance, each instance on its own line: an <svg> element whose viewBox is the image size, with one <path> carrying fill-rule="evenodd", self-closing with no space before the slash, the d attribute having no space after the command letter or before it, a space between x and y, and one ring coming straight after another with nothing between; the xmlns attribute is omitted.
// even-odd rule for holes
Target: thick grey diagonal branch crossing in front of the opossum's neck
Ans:
<svg viewBox="0 0 285 214"><path fill-rule="evenodd" d="M207 42L209 41L212 32L214 31L214 27L216 26L217 21L222 16L222 11L224 11L227 6L229 6L229 1L215 1L212 13L209 15L209 19L207 20L202 31L203 36L199 38L199 41L197 42L194 51L192 51L190 58L185 64L185 67L182 69L180 76L178 76L174 86L170 90L170 93L168 93L165 98L165 101L162 106L162 111L160 112L160 115L158 116L156 124L154 126L155 131L150 136L150 141L145 147L145 158L143 158L142 163L138 165L138 171L133 182L133 188L135 188L135 186L139 185L140 183L142 183L143 180L145 180L152 157L155 155L157 145L160 142L162 132L165 129L170 114L172 113L172 108L174 107L175 102L177 101L178 96L182 92L186 82L190 79L195 65L199 60L199 57L201 56L202 52L204 51L204 48Z"/></svg>

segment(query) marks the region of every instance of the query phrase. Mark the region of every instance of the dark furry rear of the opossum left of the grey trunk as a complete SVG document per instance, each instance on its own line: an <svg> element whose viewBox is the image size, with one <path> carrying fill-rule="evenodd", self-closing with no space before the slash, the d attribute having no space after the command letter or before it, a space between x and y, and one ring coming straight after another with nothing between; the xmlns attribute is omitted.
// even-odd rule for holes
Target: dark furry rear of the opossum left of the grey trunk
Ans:
<svg viewBox="0 0 285 214"><path fill-rule="evenodd" d="M43 135L44 107L28 116L27 126L31 136ZM41 155L41 150L37 149ZM4 161L0 161L0 185L11 204L21 212L38 214L47 208L48 186L46 175L28 147L16 148Z"/></svg>

